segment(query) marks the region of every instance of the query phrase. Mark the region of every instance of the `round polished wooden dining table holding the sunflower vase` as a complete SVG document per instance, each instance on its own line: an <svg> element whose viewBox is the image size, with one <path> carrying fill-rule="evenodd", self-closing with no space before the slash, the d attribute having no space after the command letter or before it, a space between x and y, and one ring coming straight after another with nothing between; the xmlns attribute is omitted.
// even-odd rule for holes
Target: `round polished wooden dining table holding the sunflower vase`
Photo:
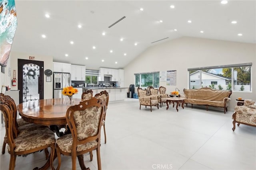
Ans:
<svg viewBox="0 0 256 170"><path fill-rule="evenodd" d="M82 102L82 99L74 98L71 105L76 105ZM63 136L63 132L59 131L59 127L67 125L66 121L66 111L70 105L69 98L61 99L42 99L42 100L32 100L28 102L21 103L17 106L17 110L25 121L34 124L41 124L50 126L50 129L56 133L56 135ZM65 132L68 133L68 132ZM84 156L79 155L78 161L82 170L88 170L84 165ZM54 159L56 158L56 153ZM46 170L50 166L50 159L41 168L36 168L40 170Z"/></svg>

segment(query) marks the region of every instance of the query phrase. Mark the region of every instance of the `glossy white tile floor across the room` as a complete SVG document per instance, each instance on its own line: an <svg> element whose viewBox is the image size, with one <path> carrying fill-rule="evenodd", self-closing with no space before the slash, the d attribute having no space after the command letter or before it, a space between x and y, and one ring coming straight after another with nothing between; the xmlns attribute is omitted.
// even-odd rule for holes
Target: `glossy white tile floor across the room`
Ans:
<svg viewBox="0 0 256 170"><path fill-rule="evenodd" d="M107 143L102 133L100 149L102 170L256 170L256 127L241 124L233 132L232 108L226 114L190 105L179 108L177 112L153 107L150 112L144 106L139 110L138 99L110 102ZM1 150L4 134L1 128ZM1 154L1 170L8 169L9 159L8 152ZM16 169L32 170L45 161L43 152L19 156ZM84 161L91 170L97 169L96 152L92 162L88 154ZM62 156L61 170L71 167L71 157Z"/></svg>

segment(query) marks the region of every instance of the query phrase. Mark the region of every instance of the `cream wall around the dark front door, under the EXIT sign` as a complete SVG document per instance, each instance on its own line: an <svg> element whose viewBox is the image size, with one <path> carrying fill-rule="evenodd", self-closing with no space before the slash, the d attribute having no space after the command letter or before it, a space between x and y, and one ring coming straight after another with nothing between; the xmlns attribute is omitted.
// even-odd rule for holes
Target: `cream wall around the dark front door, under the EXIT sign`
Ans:
<svg viewBox="0 0 256 170"><path fill-rule="evenodd" d="M26 59L29 60L29 57L35 57L34 60L36 61L44 61L44 70L50 69L53 70L53 57L51 56L41 56L36 54L26 54L26 53L18 53L18 52L11 52L9 61L11 63L11 74L13 70L16 70L16 79L18 80L18 59ZM11 75L12 76L12 75ZM53 81L53 75L52 75ZM18 89L18 81L17 86L11 86L13 90ZM52 98L52 88L53 82L46 82L46 75L44 75L44 99ZM19 89L22 90L22 89Z"/></svg>

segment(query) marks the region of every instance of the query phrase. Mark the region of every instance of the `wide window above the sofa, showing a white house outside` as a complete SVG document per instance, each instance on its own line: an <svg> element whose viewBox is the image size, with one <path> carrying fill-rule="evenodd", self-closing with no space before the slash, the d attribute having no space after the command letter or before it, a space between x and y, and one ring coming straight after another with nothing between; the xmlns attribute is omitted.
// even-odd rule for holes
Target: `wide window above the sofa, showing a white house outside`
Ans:
<svg viewBox="0 0 256 170"><path fill-rule="evenodd" d="M219 90L251 91L252 63L189 68L190 89L210 87ZM199 82L202 82L200 84Z"/></svg>

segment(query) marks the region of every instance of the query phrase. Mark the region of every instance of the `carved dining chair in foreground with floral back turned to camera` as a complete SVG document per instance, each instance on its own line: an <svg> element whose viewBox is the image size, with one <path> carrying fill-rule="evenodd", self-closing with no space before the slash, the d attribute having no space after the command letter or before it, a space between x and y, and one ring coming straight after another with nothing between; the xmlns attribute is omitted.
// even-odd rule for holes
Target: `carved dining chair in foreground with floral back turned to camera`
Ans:
<svg viewBox="0 0 256 170"><path fill-rule="evenodd" d="M100 129L106 110L106 102L92 97L78 105L70 106L66 111L66 120L71 134L64 135L56 140L58 167L61 166L61 156L71 156L72 170L76 170L76 157L80 167L83 154L96 149L98 170L101 170L100 160ZM86 167L81 167L85 169Z"/></svg>

